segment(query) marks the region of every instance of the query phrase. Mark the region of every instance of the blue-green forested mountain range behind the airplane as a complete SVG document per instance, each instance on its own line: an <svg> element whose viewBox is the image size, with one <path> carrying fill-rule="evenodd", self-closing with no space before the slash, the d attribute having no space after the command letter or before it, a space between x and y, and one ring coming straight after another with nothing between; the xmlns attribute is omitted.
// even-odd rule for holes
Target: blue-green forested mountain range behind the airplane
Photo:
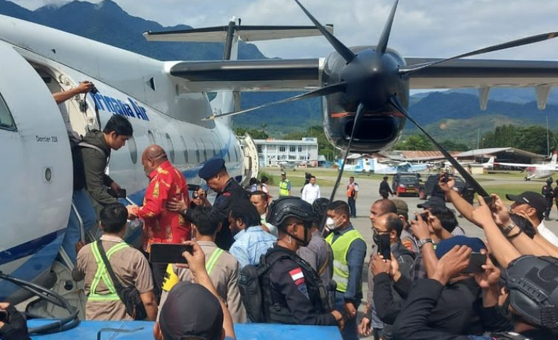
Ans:
<svg viewBox="0 0 558 340"><path fill-rule="evenodd" d="M222 43L148 43L141 35L144 31L179 30L191 26L164 27L155 21L131 16L110 0L99 4L72 1L63 6L44 6L35 11L0 0L0 14L40 23L159 60L222 58ZM262 58L265 56L255 45L240 43L239 59ZM247 92L242 94L241 106L256 106L293 94ZM548 117L549 126L558 127L558 93L551 92L547 108L539 111L534 89L493 89L486 111L480 109L476 89L425 92L411 97L409 109L436 138L466 143L476 141L479 130L483 133L503 124L544 125ZM235 116L233 124L247 128L262 128L265 124L267 133L280 137L284 133L321 124L321 115L321 100L309 99ZM405 133L417 132L411 124L407 124Z"/></svg>

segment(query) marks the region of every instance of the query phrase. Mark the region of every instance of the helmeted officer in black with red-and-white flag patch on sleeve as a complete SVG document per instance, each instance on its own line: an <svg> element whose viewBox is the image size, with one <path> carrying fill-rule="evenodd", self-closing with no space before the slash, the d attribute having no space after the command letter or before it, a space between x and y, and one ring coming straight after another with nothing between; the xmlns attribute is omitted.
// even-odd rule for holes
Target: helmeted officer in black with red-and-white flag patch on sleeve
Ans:
<svg viewBox="0 0 558 340"><path fill-rule="evenodd" d="M281 197L269 208L267 220L277 226L279 238L262 257L262 263L271 266L261 281L267 322L343 328L343 316L329 308L318 274L296 255L308 246L314 219L312 206L299 197Z"/></svg>

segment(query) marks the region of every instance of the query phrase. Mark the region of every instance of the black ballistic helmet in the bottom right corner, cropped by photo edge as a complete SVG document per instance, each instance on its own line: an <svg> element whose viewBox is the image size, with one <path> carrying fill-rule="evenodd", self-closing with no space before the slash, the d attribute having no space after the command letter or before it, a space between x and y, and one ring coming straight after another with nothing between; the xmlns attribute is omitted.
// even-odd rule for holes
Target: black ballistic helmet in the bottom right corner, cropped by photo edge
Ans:
<svg viewBox="0 0 558 340"><path fill-rule="evenodd" d="M510 304L525 321L558 330L558 258L521 256L505 270Z"/></svg>

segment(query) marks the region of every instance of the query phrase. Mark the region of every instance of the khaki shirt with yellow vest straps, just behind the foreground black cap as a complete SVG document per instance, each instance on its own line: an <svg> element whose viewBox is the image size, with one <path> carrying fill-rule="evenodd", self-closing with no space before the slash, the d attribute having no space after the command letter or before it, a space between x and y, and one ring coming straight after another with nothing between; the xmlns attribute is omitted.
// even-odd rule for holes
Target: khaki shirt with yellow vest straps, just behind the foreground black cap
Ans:
<svg viewBox="0 0 558 340"><path fill-rule="evenodd" d="M198 241L203 252L205 253L205 262L209 261L211 254L217 250L217 245L210 241ZM194 283L192 273L187 268L177 268L176 265L169 265L172 267L172 273L165 275L163 282L163 293L161 294L161 302L159 303L159 311L163 308L163 303L166 300L168 292L179 281L188 281ZM237 259L230 255L228 251L223 251L221 256L215 262L213 270L209 273L211 283L217 290L222 300L227 304L232 322L242 323L246 322L246 309L242 305L242 297L240 290L238 290L238 273L240 272L240 265ZM159 319L159 317L158 317Z"/></svg>

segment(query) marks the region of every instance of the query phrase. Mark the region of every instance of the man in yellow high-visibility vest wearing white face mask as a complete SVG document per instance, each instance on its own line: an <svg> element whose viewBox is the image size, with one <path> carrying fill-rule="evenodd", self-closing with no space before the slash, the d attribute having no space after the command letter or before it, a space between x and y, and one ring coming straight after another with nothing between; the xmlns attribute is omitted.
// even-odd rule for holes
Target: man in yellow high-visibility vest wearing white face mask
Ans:
<svg viewBox="0 0 558 340"><path fill-rule="evenodd" d="M333 280L337 283L336 309L345 311L344 340L358 339L357 311L363 298L363 265L366 243L363 236L350 224L349 206L335 201L328 207L330 230L326 241L333 250ZM332 228L333 227L333 228Z"/></svg>

